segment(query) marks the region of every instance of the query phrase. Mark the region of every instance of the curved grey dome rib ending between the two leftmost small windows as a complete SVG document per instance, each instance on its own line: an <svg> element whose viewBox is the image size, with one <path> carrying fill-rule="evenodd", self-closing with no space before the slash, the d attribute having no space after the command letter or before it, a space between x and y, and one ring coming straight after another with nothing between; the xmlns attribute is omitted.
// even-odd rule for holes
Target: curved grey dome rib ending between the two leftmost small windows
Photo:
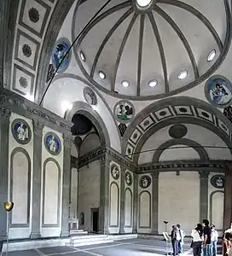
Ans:
<svg viewBox="0 0 232 256"><path fill-rule="evenodd" d="M91 72L90 72L91 78L94 77L94 73L96 71L96 64L97 64L97 61L99 60L100 55L102 54L102 49L104 49L105 45L107 44L107 41L113 35L113 32L115 32L115 30L125 21L126 18L128 18L128 16L130 16L132 14L132 12L133 12L133 8L131 7L131 9L127 10L125 12L125 14L119 18L119 20L114 24L114 26L107 33L106 38L103 39L102 44L100 45L99 49L97 50L96 57L94 59L94 62L93 62L92 68L91 68Z"/></svg>

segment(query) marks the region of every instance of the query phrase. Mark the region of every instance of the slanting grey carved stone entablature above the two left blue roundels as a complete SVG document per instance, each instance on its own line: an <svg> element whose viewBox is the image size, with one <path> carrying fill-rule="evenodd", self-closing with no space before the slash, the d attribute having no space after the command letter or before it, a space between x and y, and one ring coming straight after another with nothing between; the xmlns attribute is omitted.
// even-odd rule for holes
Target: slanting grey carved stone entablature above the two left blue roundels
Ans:
<svg viewBox="0 0 232 256"><path fill-rule="evenodd" d="M9 108L12 112L25 116L28 119L35 119L55 131L66 133L70 131L72 126L71 122L7 89L3 89L3 94L0 97L1 106Z"/></svg>

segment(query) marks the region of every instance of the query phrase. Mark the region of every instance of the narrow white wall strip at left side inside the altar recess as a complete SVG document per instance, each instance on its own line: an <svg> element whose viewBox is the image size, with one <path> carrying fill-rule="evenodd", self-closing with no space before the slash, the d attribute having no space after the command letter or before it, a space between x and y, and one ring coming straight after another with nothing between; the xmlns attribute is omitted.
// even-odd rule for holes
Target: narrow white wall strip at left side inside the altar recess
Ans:
<svg viewBox="0 0 232 256"><path fill-rule="evenodd" d="M71 205L70 205L70 220L78 221L78 170L71 170Z"/></svg>

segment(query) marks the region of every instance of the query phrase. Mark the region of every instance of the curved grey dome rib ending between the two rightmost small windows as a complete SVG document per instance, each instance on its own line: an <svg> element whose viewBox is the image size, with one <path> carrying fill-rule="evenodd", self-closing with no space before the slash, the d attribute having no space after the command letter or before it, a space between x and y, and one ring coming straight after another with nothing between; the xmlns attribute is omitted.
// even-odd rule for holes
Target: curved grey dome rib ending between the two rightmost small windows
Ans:
<svg viewBox="0 0 232 256"><path fill-rule="evenodd" d="M185 38L183 32L177 26L176 22L171 19L170 15L167 15L163 9L159 8L158 5L154 6L154 10L156 10L156 12L160 16L162 16L170 24L172 29L177 33L177 36L180 38L180 40L183 43L184 48L188 52L188 56L189 56L189 59L192 63L192 67L193 67L193 70L194 70L194 78L198 79L199 78L199 72L198 72L198 67L197 67L197 64L196 64L196 61L195 61L195 58L194 58L194 53L193 53L190 45L188 44L188 40Z"/></svg>

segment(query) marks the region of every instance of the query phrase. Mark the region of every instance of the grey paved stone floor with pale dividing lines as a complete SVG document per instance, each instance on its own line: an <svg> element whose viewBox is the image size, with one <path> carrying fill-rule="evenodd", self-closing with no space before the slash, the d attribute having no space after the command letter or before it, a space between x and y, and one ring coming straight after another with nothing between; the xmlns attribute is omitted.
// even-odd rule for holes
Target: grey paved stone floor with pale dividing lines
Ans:
<svg viewBox="0 0 232 256"><path fill-rule="evenodd" d="M171 252L171 246L168 246ZM152 239L132 239L107 244L98 244L84 247L45 247L35 250L9 252L8 256L159 256L166 255L165 241ZM189 244L183 246L183 256L191 253ZM192 253L191 253L192 254ZM5 253L3 253L5 256Z"/></svg>

